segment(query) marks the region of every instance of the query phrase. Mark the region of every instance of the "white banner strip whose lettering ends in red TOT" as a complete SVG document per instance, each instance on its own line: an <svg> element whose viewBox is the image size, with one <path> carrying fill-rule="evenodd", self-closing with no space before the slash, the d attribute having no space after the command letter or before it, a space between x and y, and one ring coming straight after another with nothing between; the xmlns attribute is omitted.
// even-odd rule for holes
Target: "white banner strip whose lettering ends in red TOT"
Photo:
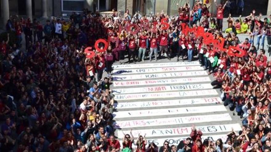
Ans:
<svg viewBox="0 0 271 152"><path fill-rule="evenodd" d="M144 107L195 105L207 103L222 103L222 100L219 97L212 97L212 98L158 100L158 101L140 101L140 102L118 102L115 103L114 106L116 109L127 109L127 108L144 108Z"/></svg>

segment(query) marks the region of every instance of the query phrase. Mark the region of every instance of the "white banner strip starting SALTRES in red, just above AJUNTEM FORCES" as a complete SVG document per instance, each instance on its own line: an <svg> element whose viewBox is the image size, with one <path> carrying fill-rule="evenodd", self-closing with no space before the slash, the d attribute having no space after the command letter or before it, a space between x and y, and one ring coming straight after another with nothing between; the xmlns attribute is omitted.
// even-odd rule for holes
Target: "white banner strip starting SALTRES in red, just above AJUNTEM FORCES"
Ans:
<svg viewBox="0 0 271 152"><path fill-rule="evenodd" d="M204 122L227 121L227 120L232 120L229 113L215 114L215 115L196 115L196 116L186 116L186 117L169 117L169 118L158 118L158 119L116 121L113 124L113 126L114 128L121 129L121 128L151 127L151 126L164 126L164 125L176 125L176 124L187 124L187 123L204 123Z"/></svg>

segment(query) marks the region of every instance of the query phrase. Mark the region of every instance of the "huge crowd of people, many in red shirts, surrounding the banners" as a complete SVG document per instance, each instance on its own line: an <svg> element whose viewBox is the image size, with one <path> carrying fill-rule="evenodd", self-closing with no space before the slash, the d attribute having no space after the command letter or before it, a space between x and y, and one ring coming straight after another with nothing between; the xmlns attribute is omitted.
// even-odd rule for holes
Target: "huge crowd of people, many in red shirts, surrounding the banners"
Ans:
<svg viewBox="0 0 271 152"><path fill-rule="evenodd" d="M73 13L68 21L52 18L45 25L35 19L11 17L7 32L15 32L18 41L10 43L8 34L0 44L4 57L0 68L3 122L0 150L269 152L271 62L264 49L253 45L253 36L257 36L257 43L264 42L266 37L270 48L270 19L262 21L261 14L255 16L255 11L244 21L234 21L230 16L229 28L224 31L227 34L223 36L224 9L228 3L217 4L216 16L208 12L208 6L196 2L191 11L187 3L180 6L179 14L174 17L164 12L147 18L140 13L132 15L129 10L124 15L115 10L107 15L84 10L83 14ZM168 29L161 21L164 18ZM138 33L125 28L130 23L141 27ZM202 26L217 40L224 38L226 49L242 44L245 56L215 52L212 44L203 44L202 37L196 37L193 32L182 33L181 23ZM250 35L240 42L239 33ZM22 45L22 35L25 45ZM106 52L94 49L95 41L101 38L115 40L109 42ZM87 46L95 52L94 57L86 57ZM271 49L268 53L270 56ZM195 56L209 74L213 73L216 80L212 85L220 88L224 105L236 110L243 119L242 131L230 132L226 142L221 139L213 142L202 140L201 131L193 127L191 136L178 146L165 141L160 148L153 142L148 144L148 137L140 134L134 140L132 131L124 134L122 143L115 139L112 126L115 101L110 89L113 62L129 64L174 57L177 61L192 61L196 60ZM128 62L124 62L126 57ZM217 58L216 64L211 57ZM106 77L103 77L104 71Z"/></svg>

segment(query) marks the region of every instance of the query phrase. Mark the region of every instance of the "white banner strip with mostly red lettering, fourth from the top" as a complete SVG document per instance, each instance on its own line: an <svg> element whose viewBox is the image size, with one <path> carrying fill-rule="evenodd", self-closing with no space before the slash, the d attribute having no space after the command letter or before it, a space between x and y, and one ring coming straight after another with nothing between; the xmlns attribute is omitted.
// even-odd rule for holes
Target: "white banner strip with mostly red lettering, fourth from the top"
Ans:
<svg viewBox="0 0 271 152"><path fill-rule="evenodd" d="M114 87L123 86L139 86L139 85L156 85L156 84L181 84L192 82L210 82L208 76L205 77L191 77L191 78L177 78L177 79L161 79L161 80L138 80L138 81L113 81Z"/></svg>

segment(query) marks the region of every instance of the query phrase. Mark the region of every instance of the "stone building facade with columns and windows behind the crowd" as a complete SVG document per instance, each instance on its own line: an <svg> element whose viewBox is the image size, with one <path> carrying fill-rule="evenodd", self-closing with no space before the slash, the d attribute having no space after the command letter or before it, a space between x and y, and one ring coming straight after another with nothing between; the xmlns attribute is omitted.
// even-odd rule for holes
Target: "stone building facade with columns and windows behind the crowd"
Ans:
<svg viewBox="0 0 271 152"><path fill-rule="evenodd" d="M90 11L111 11L113 8L121 14L129 9L130 14L140 12L141 14L156 14L161 12L168 15L178 14L177 9L188 2L193 6L197 0L1 0L1 19L3 25L10 15L19 15L27 17L43 17L51 16L60 17L62 14L71 12L82 12L87 8ZM205 2L206 0L203 0ZM213 0L211 2L210 12L216 14L216 6ZM217 0L217 3L225 0ZM233 0L231 0L233 1ZM271 14L271 0L244 0L245 10L251 12L256 6L257 12L264 10L263 14ZM253 3L254 2L254 3ZM267 12L266 12L267 10Z"/></svg>

